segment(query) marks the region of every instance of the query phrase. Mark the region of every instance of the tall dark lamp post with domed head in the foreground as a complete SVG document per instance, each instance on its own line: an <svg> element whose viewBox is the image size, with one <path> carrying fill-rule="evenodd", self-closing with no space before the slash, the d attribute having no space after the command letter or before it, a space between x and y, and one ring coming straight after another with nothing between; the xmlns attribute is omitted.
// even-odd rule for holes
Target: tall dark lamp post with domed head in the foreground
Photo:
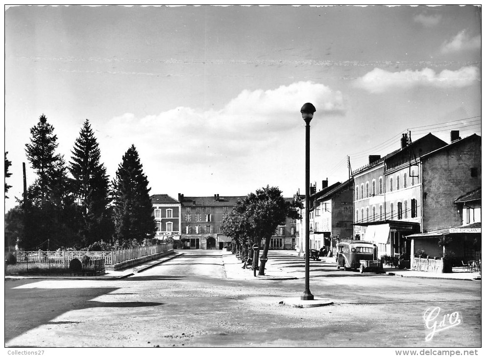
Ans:
<svg viewBox="0 0 486 357"><path fill-rule="evenodd" d="M300 300L314 300L314 295L309 289L309 146L311 137L310 123L314 112L316 112L316 108L311 103L306 103L302 106L300 112L302 113L302 119L305 121L305 290L300 295Z"/></svg>

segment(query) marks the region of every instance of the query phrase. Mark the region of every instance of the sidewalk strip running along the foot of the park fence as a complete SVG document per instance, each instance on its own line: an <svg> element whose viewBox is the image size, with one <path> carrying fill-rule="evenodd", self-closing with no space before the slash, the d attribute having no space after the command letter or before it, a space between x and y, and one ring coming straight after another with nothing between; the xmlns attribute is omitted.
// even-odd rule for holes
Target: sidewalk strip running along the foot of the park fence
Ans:
<svg viewBox="0 0 486 357"><path fill-rule="evenodd" d="M155 267L156 265L162 264L167 262L171 259L174 259L184 253L174 253L170 255L166 255L160 259L150 260L148 262L142 263L139 266L127 268L125 270L106 270L105 274L103 275L96 275L96 276L55 276L55 275L9 275L5 276L5 280L20 280L20 279L42 279L42 280L54 280L54 279L64 279L64 280L115 280L115 279L123 279L128 276L131 276L135 273L139 273L146 269Z"/></svg>

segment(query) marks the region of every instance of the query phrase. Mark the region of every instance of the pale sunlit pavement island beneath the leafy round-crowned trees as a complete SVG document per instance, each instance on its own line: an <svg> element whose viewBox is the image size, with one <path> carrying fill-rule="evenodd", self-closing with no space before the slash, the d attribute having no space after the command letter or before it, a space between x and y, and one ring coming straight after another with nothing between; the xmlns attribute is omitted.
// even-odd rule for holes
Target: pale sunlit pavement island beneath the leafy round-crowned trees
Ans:
<svg viewBox="0 0 486 357"><path fill-rule="evenodd" d="M235 254L230 251L222 252L223 256L223 266L226 273L227 279L238 279L238 280L290 280L297 279L295 276L289 275L282 269L278 268L269 259L265 264L265 275L253 276L253 269L242 269L243 263L241 260L236 258Z"/></svg>

